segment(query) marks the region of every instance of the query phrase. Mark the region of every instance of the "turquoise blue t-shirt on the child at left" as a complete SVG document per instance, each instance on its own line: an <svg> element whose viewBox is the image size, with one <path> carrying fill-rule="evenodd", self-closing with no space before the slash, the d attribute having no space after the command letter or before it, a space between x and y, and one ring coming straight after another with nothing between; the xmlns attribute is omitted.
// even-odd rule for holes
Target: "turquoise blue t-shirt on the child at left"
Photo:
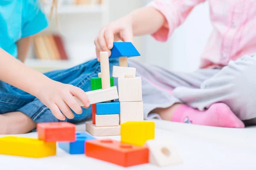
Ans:
<svg viewBox="0 0 256 170"><path fill-rule="evenodd" d="M16 42L48 26L39 0L0 0L0 48L17 58Z"/></svg>

